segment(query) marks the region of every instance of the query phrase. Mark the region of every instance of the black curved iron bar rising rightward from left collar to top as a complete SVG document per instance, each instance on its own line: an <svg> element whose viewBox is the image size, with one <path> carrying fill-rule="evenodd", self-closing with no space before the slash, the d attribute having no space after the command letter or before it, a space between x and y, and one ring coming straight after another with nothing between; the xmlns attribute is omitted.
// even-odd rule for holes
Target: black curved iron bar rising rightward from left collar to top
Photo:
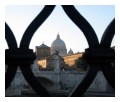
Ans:
<svg viewBox="0 0 120 102"><path fill-rule="evenodd" d="M31 38L35 31L38 29L38 27L48 18L48 16L52 13L54 10L55 5L48 5L43 8L43 10L38 14L38 16L32 21L32 23L28 26L26 29L21 43L20 43L20 48L28 48Z"/></svg>

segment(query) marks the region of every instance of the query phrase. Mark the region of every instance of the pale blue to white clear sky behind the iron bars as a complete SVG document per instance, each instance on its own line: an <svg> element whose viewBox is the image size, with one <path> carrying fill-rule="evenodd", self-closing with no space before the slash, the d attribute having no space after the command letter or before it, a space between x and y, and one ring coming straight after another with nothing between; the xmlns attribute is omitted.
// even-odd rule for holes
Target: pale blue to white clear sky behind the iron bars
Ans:
<svg viewBox="0 0 120 102"><path fill-rule="evenodd" d="M28 25L43 9L42 5L17 5L5 6L5 21L13 31L18 45ZM115 6L113 5L77 5L75 8L94 28L99 41L108 26L115 17ZM35 51L35 46L43 42L51 46L59 33L65 42L67 51L71 48L74 53L83 52L88 48L88 43L81 30L69 19L62 7L57 5L51 15L34 33L29 48ZM115 45L113 39L112 45ZM6 48L8 48L6 43Z"/></svg>

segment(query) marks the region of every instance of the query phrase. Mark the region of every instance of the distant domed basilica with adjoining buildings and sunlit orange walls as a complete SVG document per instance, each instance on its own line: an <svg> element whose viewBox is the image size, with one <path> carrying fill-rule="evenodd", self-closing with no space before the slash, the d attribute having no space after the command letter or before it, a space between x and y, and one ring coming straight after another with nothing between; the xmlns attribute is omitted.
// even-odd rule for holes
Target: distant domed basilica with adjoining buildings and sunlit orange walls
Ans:
<svg viewBox="0 0 120 102"><path fill-rule="evenodd" d="M64 66L64 69L76 68L76 60L82 56L82 53L74 54L71 48L67 53L66 44L58 34L56 39L52 42L51 47L48 47L44 43L39 47L36 47L36 55L40 69L53 68L53 61L56 52L61 59L61 67L63 68Z"/></svg>

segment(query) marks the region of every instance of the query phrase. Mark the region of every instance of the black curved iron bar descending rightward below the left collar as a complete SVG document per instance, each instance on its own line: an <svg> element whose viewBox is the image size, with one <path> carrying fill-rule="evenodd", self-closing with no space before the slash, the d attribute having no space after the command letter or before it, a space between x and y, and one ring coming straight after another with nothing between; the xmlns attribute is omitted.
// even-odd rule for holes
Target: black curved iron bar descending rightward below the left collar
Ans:
<svg viewBox="0 0 120 102"><path fill-rule="evenodd" d="M34 91L41 97L49 97L50 94L46 89L40 84L40 82L34 77L30 66L20 66L24 78L29 83L29 85L34 89Z"/></svg>

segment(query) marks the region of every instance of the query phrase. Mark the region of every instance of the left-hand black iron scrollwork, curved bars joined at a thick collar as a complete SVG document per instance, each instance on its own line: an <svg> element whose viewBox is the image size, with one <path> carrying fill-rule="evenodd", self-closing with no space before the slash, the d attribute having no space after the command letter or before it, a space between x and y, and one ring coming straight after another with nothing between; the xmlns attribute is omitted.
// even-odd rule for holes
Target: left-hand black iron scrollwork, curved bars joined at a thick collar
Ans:
<svg viewBox="0 0 120 102"><path fill-rule="evenodd" d="M47 19L47 17L51 14L55 6L45 6L44 9L39 13L39 15L33 20L33 22L29 25L27 30L25 31L23 38L21 40L20 48L15 47L16 42L15 38L13 37L13 33L10 30L10 28L6 26L6 38L10 36L13 39L14 43L13 48L16 48L14 52L10 51L10 49L6 50L6 64L10 66L10 64L14 63L16 67L14 68L14 72L10 69L11 67L8 67L8 70L6 71L6 89L10 85L11 81L13 80L13 77L15 76L17 66L20 66L20 69L26 79L26 81L30 84L30 86L37 92L39 96L50 96L47 90L38 82L38 80L35 78L33 72L30 69L30 65L33 63L35 60L35 54L33 53L33 50L29 49L29 44L30 40L34 34L34 32L37 30L37 28ZM10 32L10 33L9 33ZM12 40L10 39L10 40ZM7 39L7 42L9 43L10 41ZM11 46L12 46L11 44ZM10 44L9 44L10 46ZM10 61L11 60L11 61ZM10 62L10 63L9 63ZM12 65L13 66L13 65ZM12 72L11 72L12 71ZM10 73L12 73L11 76ZM8 77L7 77L8 76ZM9 80L11 79L11 80ZM8 83L9 80L9 83Z"/></svg>

